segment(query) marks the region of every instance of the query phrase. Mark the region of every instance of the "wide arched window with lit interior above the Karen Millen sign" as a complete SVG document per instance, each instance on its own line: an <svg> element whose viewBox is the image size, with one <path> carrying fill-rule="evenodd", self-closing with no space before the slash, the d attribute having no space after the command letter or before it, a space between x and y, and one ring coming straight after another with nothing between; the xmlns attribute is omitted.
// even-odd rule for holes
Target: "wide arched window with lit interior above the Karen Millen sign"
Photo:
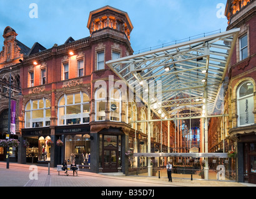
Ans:
<svg viewBox="0 0 256 199"><path fill-rule="evenodd" d="M86 93L65 94L58 104L59 125L89 123L90 99Z"/></svg>

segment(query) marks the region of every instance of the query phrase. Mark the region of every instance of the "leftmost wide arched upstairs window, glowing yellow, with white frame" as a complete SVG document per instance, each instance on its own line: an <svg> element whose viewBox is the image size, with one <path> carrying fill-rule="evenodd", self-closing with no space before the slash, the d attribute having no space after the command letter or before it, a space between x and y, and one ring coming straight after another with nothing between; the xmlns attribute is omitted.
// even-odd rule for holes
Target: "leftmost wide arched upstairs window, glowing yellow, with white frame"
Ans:
<svg viewBox="0 0 256 199"><path fill-rule="evenodd" d="M25 108L25 127L44 127L51 123L51 103L48 99L30 100Z"/></svg>

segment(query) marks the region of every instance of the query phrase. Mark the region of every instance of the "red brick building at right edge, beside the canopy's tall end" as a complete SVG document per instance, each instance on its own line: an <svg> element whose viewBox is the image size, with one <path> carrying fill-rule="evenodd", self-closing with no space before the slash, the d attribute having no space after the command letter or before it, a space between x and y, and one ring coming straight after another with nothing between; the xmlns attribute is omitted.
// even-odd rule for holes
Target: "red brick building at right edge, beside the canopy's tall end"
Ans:
<svg viewBox="0 0 256 199"><path fill-rule="evenodd" d="M249 183L256 183L255 11L254 0L227 1L227 30L240 28L227 72L229 85L225 91L224 111L229 118L212 119L209 128L212 135L209 135L210 148L213 151L237 152L237 159L230 163L230 170L234 170L233 178Z"/></svg>

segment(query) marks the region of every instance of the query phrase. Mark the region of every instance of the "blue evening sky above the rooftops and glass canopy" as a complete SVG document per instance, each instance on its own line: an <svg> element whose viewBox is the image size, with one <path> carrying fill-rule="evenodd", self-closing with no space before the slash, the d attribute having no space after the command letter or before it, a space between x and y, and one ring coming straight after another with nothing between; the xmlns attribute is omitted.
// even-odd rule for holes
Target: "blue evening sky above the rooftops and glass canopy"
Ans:
<svg viewBox="0 0 256 199"><path fill-rule="evenodd" d="M109 5L129 14L134 25L130 43L134 51L162 45L193 35L227 28L218 17L218 4L227 0L0 0L0 35L6 26L17 32L17 40L31 48L39 42L46 49L89 36L89 12ZM29 17L36 3L38 18ZM225 9L225 7L224 7ZM217 14L219 14L217 16ZM0 45L4 38L0 37ZM2 48L0 47L0 50Z"/></svg>

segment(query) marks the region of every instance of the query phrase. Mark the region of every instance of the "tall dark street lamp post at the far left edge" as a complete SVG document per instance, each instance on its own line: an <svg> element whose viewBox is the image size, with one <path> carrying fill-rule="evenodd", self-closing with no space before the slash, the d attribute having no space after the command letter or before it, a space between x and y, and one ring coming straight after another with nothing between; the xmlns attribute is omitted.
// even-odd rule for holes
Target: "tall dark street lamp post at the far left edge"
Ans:
<svg viewBox="0 0 256 199"><path fill-rule="evenodd" d="M14 73L14 72L12 72L11 69L12 69L11 67L8 68L8 69L4 68L3 70L0 71L0 73L3 72L3 71L10 72L9 73L9 83L7 83L7 81L6 82L2 81L2 84L4 86L6 86L6 88L9 88L9 97L8 97L9 98L9 105L8 105L8 131L7 131L6 139L9 139L10 135L11 135L11 94L12 94L12 91L19 93L18 95L22 95L21 87L20 86L18 87L18 86L12 85L11 73ZM16 76L15 73L14 73L14 75ZM20 82L19 82L19 85L21 85ZM6 150L6 169L9 169L9 162L10 162L9 152L10 152L10 149L9 149L9 147L7 147L7 150Z"/></svg>

